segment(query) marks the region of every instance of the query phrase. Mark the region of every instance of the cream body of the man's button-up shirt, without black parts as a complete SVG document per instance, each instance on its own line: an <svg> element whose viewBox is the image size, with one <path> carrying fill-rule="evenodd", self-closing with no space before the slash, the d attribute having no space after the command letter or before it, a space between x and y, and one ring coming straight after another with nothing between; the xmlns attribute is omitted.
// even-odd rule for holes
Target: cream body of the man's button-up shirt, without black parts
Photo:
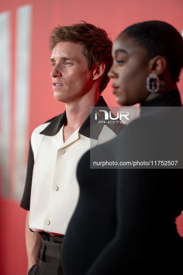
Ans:
<svg viewBox="0 0 183 275"><path fill-rule="evenodd" d="M76 168L90 149L90 138L79 134L77 129L64 143L63 126L54 136L40 135L48 124L38 126L31 136L34 169L29 227L35 232L65 234L79 197ZM93 144L101 144L115 136L104 125Z"/></svg>

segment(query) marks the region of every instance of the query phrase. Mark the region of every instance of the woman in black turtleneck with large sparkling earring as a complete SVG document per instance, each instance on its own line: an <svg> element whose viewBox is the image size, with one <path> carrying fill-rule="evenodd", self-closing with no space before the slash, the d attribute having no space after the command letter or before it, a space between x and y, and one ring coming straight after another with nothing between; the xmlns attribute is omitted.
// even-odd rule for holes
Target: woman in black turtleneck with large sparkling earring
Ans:
<svg viewBox="0 0 183 275"><path fill-rule="evenodd" d="M176 82L183 39L165 22L142 22L116 38L112 56L108 77L116 101L140 103L141 117L91 153L117 163L139 161L142 167L94 171L90 153L81 158L80 198L64 242L65 273L178 274L183 245L175 219L183 209L183 111Z"/></svg>

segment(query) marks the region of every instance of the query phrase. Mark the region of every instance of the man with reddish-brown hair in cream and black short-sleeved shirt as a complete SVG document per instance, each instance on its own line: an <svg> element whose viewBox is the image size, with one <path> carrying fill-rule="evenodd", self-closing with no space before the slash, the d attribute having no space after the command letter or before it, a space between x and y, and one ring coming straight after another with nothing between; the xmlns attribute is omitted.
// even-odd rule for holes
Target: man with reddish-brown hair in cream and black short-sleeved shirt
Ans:
<svg viewBox="0 0 183 275"><path fill-rule="evenodd" d="M114 138L121 130L121 124L103 123L90 135L90 106L107 106L100 94L109 81L111 47L107 33L86 22L58 26L51 33L54 98L64 102L66 110L38 126L30 139L21 201L21 206L28 210L29 275L63 274L63 235L79 195L77 163L90 149L91 139L97 145Z"/></svg>

